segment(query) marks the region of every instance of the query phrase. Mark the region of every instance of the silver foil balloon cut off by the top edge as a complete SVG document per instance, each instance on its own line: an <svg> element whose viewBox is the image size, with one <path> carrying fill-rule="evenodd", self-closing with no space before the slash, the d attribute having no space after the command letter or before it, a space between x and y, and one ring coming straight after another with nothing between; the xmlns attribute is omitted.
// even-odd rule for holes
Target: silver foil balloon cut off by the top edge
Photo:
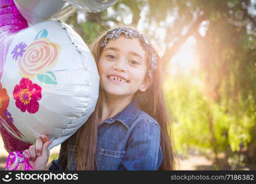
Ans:
<svg viewBox="0 0 256 184"><path fill-rule="evenodd" d="M118 0L14 0L23 17L34 25L49 18L64 20L76 10L101 12Z"/></svg>

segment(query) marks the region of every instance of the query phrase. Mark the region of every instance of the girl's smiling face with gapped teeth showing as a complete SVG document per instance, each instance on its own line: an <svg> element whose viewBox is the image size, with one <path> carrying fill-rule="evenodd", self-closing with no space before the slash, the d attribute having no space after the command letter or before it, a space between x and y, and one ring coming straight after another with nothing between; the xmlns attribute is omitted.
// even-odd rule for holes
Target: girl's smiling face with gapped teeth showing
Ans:
<svg viewBox="0 0 256 184"><path fill-rule="evenodd" d="M120 36L108 40L98 61L100 85L106 94L133 96L150 86L147 74L146 52L137 38Z"/></svg>

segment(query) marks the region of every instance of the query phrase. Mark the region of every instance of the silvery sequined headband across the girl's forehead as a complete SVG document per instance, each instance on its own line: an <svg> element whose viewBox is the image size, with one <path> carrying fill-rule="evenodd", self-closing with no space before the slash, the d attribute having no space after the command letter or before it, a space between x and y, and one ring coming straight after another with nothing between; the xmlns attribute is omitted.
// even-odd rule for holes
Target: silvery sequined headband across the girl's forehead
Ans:
<svg viewBox="0 0 256 184"><path fill-rule="evenodd" d="M135 38L137 37L140 42L142 43L142 47L143 49L149 53L148 56L148 75L150 75L150 77L153 77L153 70L157 69L157 61L158 59L156 58L156 53L153 50L153 45L150 44L149 40L146 39L146 37L143 34L139 34L138 31L136 31L135 29L132 28L116 28L113 29L111 31L108 31L108 33L105 36L105 39L103 40L102 44L100 45L100 47L104 47L107 42L108 39L117 39L119 38L119 36L121 34L124 34L126 36L126 38Z"/></svg>

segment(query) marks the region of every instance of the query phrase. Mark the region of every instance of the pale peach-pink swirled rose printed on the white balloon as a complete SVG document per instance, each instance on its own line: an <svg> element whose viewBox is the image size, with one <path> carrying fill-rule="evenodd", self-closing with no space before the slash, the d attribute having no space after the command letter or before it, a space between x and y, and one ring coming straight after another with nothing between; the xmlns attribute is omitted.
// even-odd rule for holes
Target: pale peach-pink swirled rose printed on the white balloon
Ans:
<svg viewBox="0 0 256 184"><path fill-rule="evenodd" d="M25 47L25 52L18 59L20 75L33 79L37 74L44 74L58 61L60 46L47 38L40 38Z"/></svg>

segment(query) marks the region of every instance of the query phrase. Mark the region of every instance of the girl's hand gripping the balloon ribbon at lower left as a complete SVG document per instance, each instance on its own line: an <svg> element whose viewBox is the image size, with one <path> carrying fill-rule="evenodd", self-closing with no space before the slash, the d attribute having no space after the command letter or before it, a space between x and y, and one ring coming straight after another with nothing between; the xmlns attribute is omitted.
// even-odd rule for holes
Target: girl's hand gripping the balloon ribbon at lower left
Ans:
<svg viewBox="0 0 256 184"><path fill-rule="evenodd" d="M31 145L30 148L23 152L25 158L30 159L30 164L34 170L45 170L49 159L48 147L52 141L42 135L36 140L36 145Z"/></svg>

